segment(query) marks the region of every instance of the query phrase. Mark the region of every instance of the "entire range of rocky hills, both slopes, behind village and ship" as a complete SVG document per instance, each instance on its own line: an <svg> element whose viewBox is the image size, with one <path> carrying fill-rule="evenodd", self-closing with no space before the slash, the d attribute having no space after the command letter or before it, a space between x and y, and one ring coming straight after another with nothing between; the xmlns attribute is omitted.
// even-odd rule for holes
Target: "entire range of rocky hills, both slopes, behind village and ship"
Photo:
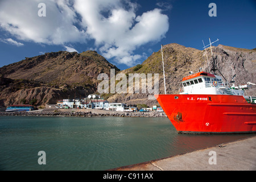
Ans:
<svg viewBox="0 0 256 182"><path fill-rule="evenodd" d="M226 80L236 84L256 83L256 50L219 45L207 52L184 47L176 43L163 46L164 67L167 94L179 93L180 81L189 72L194 73L203 68L208 70L207 53L210 69L217 67ZM0 106L10 104L35 105L55 104L63 98L80 98L90 93L97 93L100 73L110 75L110 69L117 73L159 73L159 93L164 94L162 52L152 53L141 65L119 71L104 57L95 51L51 52L26 59L0 68ZM216 71L216 73L218 73ZM128 80L128 79L127 79ZM146 80L143 80L146 82ZM117 84L118 81L115 81ZM127 85L128 86L128 85ZM128 88L127 88L128 89ZM256 96L256 86L247 90L248 95ZM126 104L158 105L156 100L149 100L148 93L102 94L110 102Z"/></svg>

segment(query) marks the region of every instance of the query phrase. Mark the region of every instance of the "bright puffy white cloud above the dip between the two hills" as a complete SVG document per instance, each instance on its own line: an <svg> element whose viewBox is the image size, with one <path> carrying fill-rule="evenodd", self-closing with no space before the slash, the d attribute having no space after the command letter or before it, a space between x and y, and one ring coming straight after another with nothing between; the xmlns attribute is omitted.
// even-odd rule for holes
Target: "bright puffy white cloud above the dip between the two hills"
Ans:
<svg viewBox="0 0 256 182"><path fill-rule="evenodd" d="M115 58L119 63L134 65L142 55L133 55L133 51L149 42L158 42L168 31L168 16L154 9L135 15L135 3L129 3L126 9L120 1L75 1L75 9L82 17L82 26L96 40L100 52L106 59ZM108 16L101 11L109 11Z"/></svg>

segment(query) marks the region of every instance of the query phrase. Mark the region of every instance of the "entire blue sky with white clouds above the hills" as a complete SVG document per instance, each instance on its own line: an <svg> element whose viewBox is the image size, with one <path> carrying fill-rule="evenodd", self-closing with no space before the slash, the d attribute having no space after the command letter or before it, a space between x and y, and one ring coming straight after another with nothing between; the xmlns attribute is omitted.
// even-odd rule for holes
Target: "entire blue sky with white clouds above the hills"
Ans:
<svg viewBox="0 0 256 182"><path fill-rule="evenodd" d="M210 3L216 4L217 16L209 16ZM46 16L38 15L43 12ZM46 52L94 49L126 69L161 44L203 49L202 40L208 44L210 38L253 49L255 32L253 0L2 0L0 67Z"/></svg>

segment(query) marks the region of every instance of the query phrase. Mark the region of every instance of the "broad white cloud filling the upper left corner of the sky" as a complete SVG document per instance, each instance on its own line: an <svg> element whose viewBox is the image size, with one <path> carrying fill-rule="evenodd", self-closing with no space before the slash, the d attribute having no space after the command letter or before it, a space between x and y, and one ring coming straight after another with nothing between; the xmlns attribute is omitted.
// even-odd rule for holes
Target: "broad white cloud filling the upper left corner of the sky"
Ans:
<svg viewBox="0 0 256 182"><path fill-rule="evenodd" d="M45 44L86 40L86 32L75 26L76 14L68 1L47 0L46 17L38 16L41 0L0 2L0 26L16 38Z"/></svg>

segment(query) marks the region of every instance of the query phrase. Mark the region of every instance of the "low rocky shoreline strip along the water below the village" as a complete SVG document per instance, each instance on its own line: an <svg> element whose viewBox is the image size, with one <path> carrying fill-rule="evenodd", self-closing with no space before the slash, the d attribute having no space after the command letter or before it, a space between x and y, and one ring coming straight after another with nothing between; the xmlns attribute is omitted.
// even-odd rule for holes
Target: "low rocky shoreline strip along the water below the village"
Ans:
<svg viewBox="0 0 256 182"><path fill-rule="evenodd" d="M44 109L29 112L0 112L0 116L64 116L64 117L167 117L164 112L121 112L106 110L82 110L82 109Z"/></svg>

